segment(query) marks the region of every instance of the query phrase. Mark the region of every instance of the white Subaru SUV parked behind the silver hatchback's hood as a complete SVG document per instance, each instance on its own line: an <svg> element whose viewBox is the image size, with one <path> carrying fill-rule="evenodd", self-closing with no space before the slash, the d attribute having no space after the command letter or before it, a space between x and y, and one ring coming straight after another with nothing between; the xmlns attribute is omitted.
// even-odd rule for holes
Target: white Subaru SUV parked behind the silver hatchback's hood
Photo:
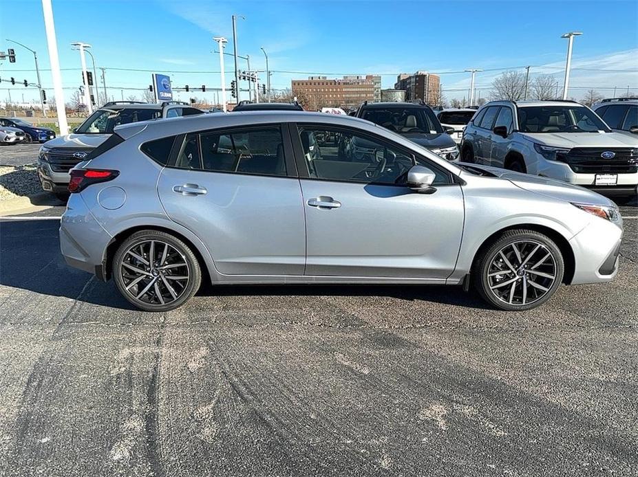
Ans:
<svg viewBox="0 0 638 477"><path fill-rule="evenodd" d="M575 101L493 101L467 124L463 162L560 179L630 201L638 193L638 135L613 132Z"/></svg>

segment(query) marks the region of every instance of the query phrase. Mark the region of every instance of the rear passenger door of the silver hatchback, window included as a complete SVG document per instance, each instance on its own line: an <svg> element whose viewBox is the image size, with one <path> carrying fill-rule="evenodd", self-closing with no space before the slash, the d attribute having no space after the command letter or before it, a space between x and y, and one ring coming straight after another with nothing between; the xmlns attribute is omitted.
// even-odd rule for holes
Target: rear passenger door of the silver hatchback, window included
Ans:
<svg viewBox="0 0 638 477"><path fill-rule="evenodd" d="M303 275L306 224L279 124L180 135L158 193L228 275Z"/></svg>

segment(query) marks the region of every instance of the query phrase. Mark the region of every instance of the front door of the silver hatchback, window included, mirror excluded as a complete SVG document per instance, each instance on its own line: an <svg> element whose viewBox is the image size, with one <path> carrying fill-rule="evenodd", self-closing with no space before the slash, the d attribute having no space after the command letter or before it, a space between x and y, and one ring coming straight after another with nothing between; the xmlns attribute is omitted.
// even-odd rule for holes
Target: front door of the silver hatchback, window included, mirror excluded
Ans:
<svg viewBox="0 0 638 477"><path fill-rule="evenodd" d="M353 127L297 124L295 157L306 213L306 275L445 280L463 229L460 186L447 170ZM418 162L436 192L405 185Z"/></svg>

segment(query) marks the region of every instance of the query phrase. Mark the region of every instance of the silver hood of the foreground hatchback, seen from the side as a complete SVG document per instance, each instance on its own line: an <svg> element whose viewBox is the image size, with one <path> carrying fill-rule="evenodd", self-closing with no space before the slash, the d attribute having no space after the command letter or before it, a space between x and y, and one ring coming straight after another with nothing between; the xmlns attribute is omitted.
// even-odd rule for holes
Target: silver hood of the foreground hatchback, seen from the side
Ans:
<svg viewBox="0 0 638 477"><path fill-rule="evenodd" d="M598 206L615 206L615 203L607 197L584 187L568 184L568 182L549 179L549 177L540 177L538 175L515 173L511 170L498 167L477 166L476 164L469 165L477 169L485 170L500 179L508 180L524 190L551 197L552 199L567 202L592 203Z"/></svg>

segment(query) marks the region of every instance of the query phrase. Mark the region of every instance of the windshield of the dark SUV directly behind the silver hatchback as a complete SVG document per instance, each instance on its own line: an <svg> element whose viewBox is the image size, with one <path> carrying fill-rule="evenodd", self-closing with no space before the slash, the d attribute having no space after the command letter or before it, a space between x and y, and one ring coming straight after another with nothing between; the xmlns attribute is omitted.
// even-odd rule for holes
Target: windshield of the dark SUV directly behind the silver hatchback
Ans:
<svg viewBox="0 0 638 477"><path fill-rule="evenodd" d="M370 108L364 109L361 117L401 134L443 133L436 116L427 108Z"/></svg>

